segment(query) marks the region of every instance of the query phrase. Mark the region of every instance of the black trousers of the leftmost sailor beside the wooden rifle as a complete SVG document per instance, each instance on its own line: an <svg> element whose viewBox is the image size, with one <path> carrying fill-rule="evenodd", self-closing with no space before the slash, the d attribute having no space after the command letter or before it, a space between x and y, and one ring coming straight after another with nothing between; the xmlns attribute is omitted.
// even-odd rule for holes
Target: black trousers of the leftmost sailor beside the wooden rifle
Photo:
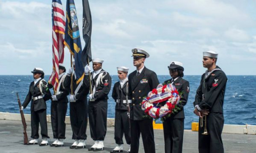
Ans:
<svg viewBox="0 0 256 153"><path fill-rule="evenodd" d="M31 111L31 138L39 138L39 122L41 127L42 138L50 138L47 131L47 120L46 120L46 110Z"/></svg>

